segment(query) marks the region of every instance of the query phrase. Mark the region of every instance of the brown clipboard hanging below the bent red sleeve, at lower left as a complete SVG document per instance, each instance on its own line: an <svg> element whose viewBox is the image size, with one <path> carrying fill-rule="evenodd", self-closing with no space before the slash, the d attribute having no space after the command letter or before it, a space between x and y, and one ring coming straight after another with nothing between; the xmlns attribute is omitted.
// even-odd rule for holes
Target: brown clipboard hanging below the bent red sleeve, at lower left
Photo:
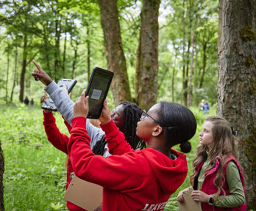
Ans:
<svg viewBox="0 0 256 211"><path fill-rule="evenodd" d="M64 199L85 210L93 211L102 204L102 192L102 186L87 182L74 175L65 192Z"/></svg>

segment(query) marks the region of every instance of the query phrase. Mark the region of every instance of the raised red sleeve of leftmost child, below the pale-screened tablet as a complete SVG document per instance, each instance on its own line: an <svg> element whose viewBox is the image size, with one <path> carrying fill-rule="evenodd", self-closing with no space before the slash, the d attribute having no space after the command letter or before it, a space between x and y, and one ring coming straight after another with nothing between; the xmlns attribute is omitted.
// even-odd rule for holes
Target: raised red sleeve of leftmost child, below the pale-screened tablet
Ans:
<svg viewBox="0 0 256 211"><path fill-rule="evenodd" d="M67 144L68 144L68 136L63 133L60 133L59 128L56 125L56 120L52 114L52 112L46 113L43 111L43 125L44 130L46 131L46 135L51 144L60 149L60 151L67 154Z"/></svg>

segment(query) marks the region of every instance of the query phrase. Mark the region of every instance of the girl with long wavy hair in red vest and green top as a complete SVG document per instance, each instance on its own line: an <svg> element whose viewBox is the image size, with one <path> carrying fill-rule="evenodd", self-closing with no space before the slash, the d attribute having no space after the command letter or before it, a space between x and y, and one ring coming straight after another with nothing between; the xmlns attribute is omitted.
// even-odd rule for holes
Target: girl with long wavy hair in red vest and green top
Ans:
<svg viewBox="0 0 256 211"><path fill-rule="evenodd" d="M202 210L246 211L244 178L238 163L234 131L226 119L210 116L199 133L200 144L193 160L191 197ZM184 201L179 192L177 200Z"/></svg>

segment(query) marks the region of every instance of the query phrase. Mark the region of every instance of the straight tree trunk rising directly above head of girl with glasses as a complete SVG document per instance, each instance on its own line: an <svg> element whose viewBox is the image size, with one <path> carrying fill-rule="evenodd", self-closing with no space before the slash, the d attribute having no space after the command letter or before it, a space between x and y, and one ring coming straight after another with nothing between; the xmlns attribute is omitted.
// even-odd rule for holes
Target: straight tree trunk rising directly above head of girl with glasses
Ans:
<svg viewBox="0 0 256 211"><path fill-rule="evenodd" d="M158 14L159 0L143 0L141 33L136 70L137 99L141 108L149 109L157 101ZM138 74L139 73L139 74Z"/></svg>

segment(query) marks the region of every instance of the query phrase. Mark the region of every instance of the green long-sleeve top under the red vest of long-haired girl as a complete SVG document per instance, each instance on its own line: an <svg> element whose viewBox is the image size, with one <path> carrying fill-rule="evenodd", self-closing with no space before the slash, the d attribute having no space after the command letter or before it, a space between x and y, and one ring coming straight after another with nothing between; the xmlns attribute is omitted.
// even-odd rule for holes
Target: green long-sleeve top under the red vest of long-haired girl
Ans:
<svg viewBox="0 0 256 211"><path fill-rule="evenodd" d="M209 163L209 160L207 160L204 163L199 173L198 190L201 190L202 188L202 182L204 182L204 179L205 179L205 174L203 174L203 172L208 163ZM243 192L243 185L240 179L239 170L234 162L230 161L229 163L227 163L226 175L227 175L227 184L230 189L230 195L225 196L224 199L222 196L218 196L218 198L213 202L213 205L216 207L238 207L244 204L245 196ZM211 196L214 196L214 194Z"/></svg>

